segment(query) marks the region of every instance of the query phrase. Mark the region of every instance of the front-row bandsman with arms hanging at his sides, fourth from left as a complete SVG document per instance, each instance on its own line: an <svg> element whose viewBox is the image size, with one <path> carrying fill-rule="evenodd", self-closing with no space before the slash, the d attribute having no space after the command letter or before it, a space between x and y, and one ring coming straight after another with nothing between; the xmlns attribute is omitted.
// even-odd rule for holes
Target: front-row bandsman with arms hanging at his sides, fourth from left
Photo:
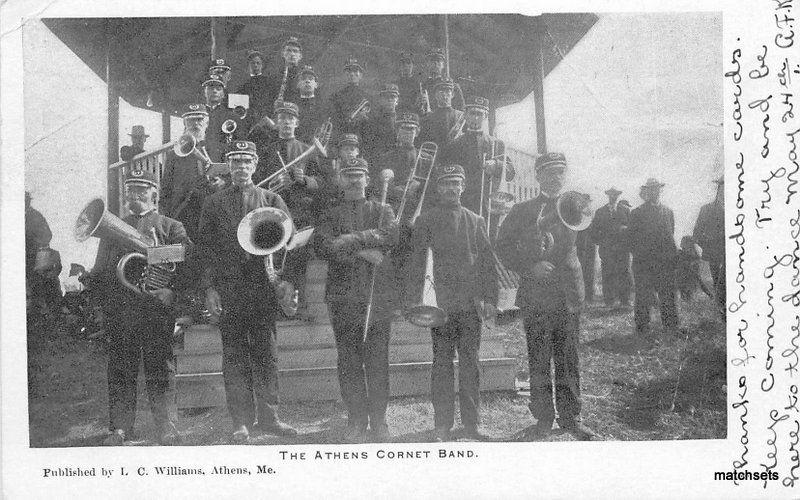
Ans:
<svg viewBox="0 0 800 500"><path fill-rule="evenodd" d="M433 275L436 301L447 313L447 322L431 328L433 367L431 398L433 400L435 439L448 441L453 427L455 389L453 387L453 355L458 351L458 399L461 423L467 437L477 439L480 380L478 349L482 319L492 315L497 302L495 255L486 233L486 221L461 206L464 191L464 169L461 165L445 165L437 174L439 202L423 212L413 233L414 254L410 279L423 283L428 248L433 249ZM421 296L414 290L413 304Z"/></svg>

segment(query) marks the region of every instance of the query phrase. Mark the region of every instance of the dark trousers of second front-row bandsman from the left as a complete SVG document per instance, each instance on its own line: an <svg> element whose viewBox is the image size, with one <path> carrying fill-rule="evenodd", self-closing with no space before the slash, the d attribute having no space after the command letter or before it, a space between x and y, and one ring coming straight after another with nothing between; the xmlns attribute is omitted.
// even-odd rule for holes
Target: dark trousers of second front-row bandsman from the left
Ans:
<svg viewBox="0 0 800 500"><path fill-rule="evenodd" d="M278 418L276 306L267 286L241 283L217 289L222 296L222 375L234 428L269 425Z"/></svg>

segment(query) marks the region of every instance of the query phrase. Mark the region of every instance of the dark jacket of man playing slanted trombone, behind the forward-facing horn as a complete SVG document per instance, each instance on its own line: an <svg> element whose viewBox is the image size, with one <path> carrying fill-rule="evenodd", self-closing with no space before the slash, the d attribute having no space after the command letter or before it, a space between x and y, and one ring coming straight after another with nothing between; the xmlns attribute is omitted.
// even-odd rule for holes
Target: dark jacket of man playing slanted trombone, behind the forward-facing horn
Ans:
<svg viewBox="0 0 800 500"><path fill-rule="evenodd" d="M281 161L277 153L281 154L283 161L288 165L293 159L300 156L309 146L295 138L280 139L272 142L258 153L258 167L253 174L253 182L258 184L273 173L282 168ZM292 183L288 188L281 191L280 195L289 207L292 218L297 223L297 227L312 224L315 219L313 204L316 191L319 190L321 182L320 167L315 155L311 155L301 162L305 172L305 185L298 182ZM267 185L262 186L268 188Z"/></svg>

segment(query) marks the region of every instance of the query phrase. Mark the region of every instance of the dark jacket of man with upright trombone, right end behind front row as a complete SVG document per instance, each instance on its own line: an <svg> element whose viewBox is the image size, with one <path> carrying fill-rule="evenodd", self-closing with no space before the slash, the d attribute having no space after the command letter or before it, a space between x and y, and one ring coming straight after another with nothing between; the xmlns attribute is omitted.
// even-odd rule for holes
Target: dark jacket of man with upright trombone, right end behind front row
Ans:
<svg viewBox="0 0 800 500"><path fill-rule="evenodd" d="M486 159L489 159L492 154L492 139L492 136L483 131L468 130L464 135L439 150L442 156L437 163L440 165L457 163L464 167L466 178L464 179L464 193L461 195L461 204L473 212L480 211L481 178L483 177L482 163L484 154ZM440 145L439 147L441 148L442 146ZM503 154L504 151L505 144L503 141L495 140L495 156ZM493 190L500 187L500 174L501 172L498 170L492 176ZM509 170L506 169L506 178L508 177ZM485 206L489 196L489 176L486 176L484 180L483 192Z"/></svg>

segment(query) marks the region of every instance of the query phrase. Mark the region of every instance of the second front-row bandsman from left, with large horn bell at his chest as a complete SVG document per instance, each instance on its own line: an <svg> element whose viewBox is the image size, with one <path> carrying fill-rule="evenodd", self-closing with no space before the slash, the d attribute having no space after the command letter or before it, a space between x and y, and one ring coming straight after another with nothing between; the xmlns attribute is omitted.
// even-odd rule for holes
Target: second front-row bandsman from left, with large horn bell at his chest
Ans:
<svg viewBox="0 0 800 500"><path fill-rule="evenodd" d="M278 366L275 319L279 301L268 282L264 259L245 252L236 232L252 210L274 207L288 212L280 195L257 188L252 176L255 144L236 141L226 155L233 185L209 196L200 216L198 253L204 272L206 308L219 316L225 397L233 420L234 443L245 443L255 429L278 436L297 431L278 420Z"/></svg>

